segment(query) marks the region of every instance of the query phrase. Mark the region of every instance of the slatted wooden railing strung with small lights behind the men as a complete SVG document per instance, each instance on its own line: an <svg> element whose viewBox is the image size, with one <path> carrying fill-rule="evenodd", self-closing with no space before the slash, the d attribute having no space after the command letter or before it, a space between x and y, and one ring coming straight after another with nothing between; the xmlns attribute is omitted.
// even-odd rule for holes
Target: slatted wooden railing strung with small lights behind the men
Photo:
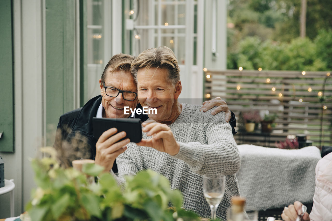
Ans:
<svg viewBox="0 0 332 221"><path fill-rule="evenodd" d="M278 115L276 127L268 138L259 134L243 137L239 133L234 136L238 144L265 146L268 140L268 146L274 146L289 134L304 133L313 145L331 146L332 76L329 71L207 70L205 74L209 77L205 78L206 98L224 99L237 116L238 130L242 127L241 111L268 110Z"/></svg>

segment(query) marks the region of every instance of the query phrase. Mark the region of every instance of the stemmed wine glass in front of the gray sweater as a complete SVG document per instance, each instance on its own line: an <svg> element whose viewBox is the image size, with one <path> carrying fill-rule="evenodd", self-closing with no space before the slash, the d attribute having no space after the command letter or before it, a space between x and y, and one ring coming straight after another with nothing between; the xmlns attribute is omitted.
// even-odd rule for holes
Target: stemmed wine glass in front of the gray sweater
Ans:
<svg viewBox="0 0 332 221"><path fill-rule="evenodd" d="M216 218L219 203L225 193L226 176L203 176L203 193L211 209L211 219Z"/></svg>

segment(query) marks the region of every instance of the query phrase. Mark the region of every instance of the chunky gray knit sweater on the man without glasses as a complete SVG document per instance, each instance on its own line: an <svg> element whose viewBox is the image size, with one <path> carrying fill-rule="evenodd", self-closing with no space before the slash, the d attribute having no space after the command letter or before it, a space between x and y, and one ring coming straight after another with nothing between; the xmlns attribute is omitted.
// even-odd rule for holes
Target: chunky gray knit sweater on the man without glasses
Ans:
<svg viewBox="0 0 332 221"><path fill-rule="evenodd" d="M184 104L174 123L169 125L180 144L179 153L172 157L151 147L129 143L117 158L119 178L151 169L164 175L172 189L180 189L184 208L201 217L210 217L210 208L203 195L203 175L227 175L225 195L218 206L217 217L226 220L230 197L239 195L235 173L241 159L225 113L211 115L200 111L201 105ZM143 138L147 137L143 132Z"/></svg>

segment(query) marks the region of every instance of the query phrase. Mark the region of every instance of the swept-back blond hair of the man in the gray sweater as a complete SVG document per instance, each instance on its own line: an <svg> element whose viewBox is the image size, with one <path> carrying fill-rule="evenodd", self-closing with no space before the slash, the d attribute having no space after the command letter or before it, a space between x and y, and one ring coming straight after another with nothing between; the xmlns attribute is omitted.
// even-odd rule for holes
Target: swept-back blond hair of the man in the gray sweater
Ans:
<svg viewBox="0 0 332 221"><path fill-rule="evenodd" d="M175 85L180 80L178 60L172 49L166 46L146 49L131 63L130 72L137 83L137 71L140 68L163 68L168 70L167 80Z"/></svg>

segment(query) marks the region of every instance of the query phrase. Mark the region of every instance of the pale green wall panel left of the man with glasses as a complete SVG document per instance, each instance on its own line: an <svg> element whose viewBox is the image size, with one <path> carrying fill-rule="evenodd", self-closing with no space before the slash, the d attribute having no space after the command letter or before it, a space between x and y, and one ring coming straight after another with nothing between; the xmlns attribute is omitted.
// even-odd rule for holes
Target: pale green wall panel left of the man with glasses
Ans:
<svg viewBox="0 0 332 221"><path fill-rule="evenodd" d="M75 2L46 0L46 144L61 114L74 107Z"/></svg>

